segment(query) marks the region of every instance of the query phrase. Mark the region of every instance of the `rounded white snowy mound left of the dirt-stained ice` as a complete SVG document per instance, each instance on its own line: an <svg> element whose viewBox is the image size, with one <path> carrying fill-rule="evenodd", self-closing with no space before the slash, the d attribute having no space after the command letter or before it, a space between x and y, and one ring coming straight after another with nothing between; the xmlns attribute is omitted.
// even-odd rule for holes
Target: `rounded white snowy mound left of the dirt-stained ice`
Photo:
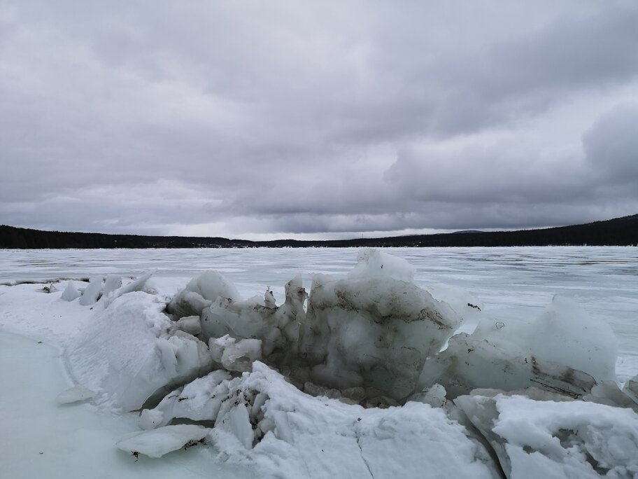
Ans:
<svg viewBox="0 0 638 479"><path fill-rule="evenodd" d="M211 370L208 347L173 328L157 296L135 291L94 314L68 349L71 373L99 401L136 410L157 391Z"/></svg>

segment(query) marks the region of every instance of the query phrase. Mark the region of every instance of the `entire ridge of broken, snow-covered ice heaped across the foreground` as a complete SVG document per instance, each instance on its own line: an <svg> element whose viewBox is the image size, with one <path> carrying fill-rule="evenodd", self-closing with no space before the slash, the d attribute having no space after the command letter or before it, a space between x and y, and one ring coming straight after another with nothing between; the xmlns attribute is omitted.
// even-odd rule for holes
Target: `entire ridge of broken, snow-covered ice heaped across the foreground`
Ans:
<svg viewBox="0 0 638 479"><path fill-rule="evenodd" d="M504 317L374 249L250 288L210 266L0 286L0 325L64 347L51 401L128 418L111 448L153 471L190 454L225 477L638 477L638 371L578 298Z"/></svg>

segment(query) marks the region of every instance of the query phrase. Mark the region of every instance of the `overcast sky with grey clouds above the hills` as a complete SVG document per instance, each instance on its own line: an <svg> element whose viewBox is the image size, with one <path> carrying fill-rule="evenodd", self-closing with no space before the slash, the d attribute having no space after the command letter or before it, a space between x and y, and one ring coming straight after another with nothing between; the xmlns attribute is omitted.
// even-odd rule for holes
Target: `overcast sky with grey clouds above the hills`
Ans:
<svg viewBox="0 0 638 479"><path fill-rule="evenodd" d="M638 2L0 0L0 223L248 239L638 212Z"/></svg>

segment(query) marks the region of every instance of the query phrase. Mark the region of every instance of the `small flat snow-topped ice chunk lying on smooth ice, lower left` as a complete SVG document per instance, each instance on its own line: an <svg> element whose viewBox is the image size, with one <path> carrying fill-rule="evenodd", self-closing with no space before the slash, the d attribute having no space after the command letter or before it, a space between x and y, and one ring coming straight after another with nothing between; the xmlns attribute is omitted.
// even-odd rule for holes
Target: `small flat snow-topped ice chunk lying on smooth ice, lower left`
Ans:
<svg viewBox="0 0 638 479"><path fill-rule="evenodd" d="M194 424L176 424L148 431L127 434L115 445L122 451L144 454L148 457L162 457L176 451L188 443L196 443L208 435L208 429Z"/></svg>

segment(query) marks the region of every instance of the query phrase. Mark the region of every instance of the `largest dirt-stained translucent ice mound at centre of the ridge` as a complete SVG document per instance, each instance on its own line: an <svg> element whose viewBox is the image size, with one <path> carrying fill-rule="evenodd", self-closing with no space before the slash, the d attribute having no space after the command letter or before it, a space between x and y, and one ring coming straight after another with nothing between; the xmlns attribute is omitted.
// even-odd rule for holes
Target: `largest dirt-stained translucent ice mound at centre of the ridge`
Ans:
<svg viewBox="0 0 638 479"><path fill-rule="evenodd" d="M295 277L285 285L280 307L270 291L263 299L218 296L202 310L201 330L211 340L216 362L223 365L231 355L248 359L239 369L224 366L228 370L249 370L250 359L263 359L290 370L300 384L364 387L365 397L402 400L413 392L427 356L438 352L460 323L451 307L412 278L413 268L403 259L363 249L346 279L313 275L307 314L306 291L301 277ZM218 275L215 282L227 284ZM183 311L196 309L193 303L186 307L187 296L180 295L169 311L178 309L176 302ZM218 338L226 336L239 341L234 348L250 344L250 354L223 352L222 357Z"/></svg>

